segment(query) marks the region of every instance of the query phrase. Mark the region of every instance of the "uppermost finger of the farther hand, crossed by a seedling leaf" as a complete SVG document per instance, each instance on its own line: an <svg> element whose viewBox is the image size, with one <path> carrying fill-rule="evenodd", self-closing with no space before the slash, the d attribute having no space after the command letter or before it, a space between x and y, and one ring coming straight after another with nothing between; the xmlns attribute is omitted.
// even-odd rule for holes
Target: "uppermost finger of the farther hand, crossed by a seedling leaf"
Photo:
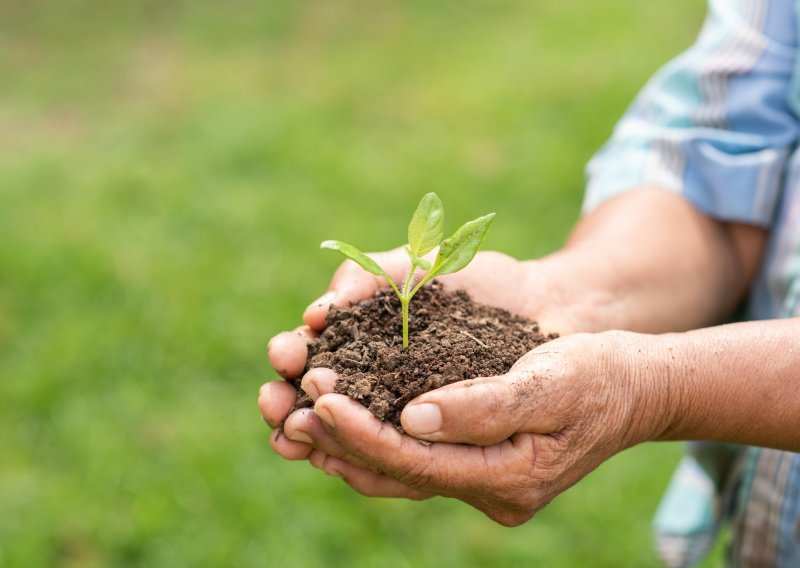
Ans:
<svg viewBox="0 0 800 568"><path fill-rule="evenodd" d="M388 252L369 253L395 282L401 280L408 270L409 260L402 248ZM389 284L380 276L370 274L352 260L346 260L333 275L328 291L311 302L303 314L303 321L313 330L325 328L325 317L331 305L350 306L388 288Z"/></svg>

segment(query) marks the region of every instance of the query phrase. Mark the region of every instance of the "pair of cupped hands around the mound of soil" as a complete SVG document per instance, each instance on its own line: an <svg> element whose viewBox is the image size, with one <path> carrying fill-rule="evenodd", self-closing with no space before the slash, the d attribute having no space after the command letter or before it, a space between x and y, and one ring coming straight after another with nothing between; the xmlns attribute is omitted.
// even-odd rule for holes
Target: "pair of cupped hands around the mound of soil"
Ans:
<svg viewBox="0 0 800 568"><path fill-rule="evenodd" d="M371 255L400 279L402 250ZM440 279L478 302L569 333L569 299L538 262L479 253L463 271ZM329 292L309 306L305 326L274 337L272 366L300 379L306 343L325 326L330 304L371 297L385 283L351 261L338 269ZM527 521L556 495L615 453L655 437L650 417L657 381L635 365L648 337L632 333L572 333L522 357L505 375L477 378L426 393L403 411L402 435L349 398L333 394L336 374L312 369L302 377L314 409L289 414L294 387L261 387L259 406L273 428L284 419L273 449L308 460L374 497L454 497L507 526ZM657 414L657 413L656 413ZM413 436L413 437L412 437ZM421 444L419 440L433 442Z"/></svg>

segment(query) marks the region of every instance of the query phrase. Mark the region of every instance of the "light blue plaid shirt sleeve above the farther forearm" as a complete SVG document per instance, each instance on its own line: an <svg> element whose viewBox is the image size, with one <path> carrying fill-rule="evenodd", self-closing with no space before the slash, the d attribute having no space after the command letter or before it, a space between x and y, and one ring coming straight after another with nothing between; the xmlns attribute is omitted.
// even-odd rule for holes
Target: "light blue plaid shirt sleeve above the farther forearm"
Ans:
<svg viewBox="0 0 800 568"><path fill-rule="evenodd" d="M768 226L798 138L793 0L711 0L696 43L648 82L587 166L588 213L642 186Z"/></svg>

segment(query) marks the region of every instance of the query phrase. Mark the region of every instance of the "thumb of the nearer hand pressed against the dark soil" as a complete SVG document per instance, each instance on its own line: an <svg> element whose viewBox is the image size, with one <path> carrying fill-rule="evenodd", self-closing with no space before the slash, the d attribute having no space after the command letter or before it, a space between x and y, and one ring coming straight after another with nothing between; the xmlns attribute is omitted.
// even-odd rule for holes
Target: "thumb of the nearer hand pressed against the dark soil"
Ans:
<svg viewBox="0 0 800 568"><path fill-rule="evenodd" d="M525 422L523 397L514 375L460 381L415 398L400 423L422 440L489 446L508 439Z"/></svg>

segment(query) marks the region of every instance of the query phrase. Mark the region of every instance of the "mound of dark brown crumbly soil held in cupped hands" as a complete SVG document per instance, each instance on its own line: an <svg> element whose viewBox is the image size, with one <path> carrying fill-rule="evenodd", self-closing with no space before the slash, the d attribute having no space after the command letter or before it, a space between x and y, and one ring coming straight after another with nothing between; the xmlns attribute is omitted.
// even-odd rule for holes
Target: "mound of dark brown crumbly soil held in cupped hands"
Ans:
<svg viewBox="0 0 800 568"><path fill-rule="evenodd" d="M506 373L556 337L540 333L534 321L473 302L466 292L446 294L434 281L411 302L408 349L402 348L400 301L390 290L378 292L350 308L331 308L325 331L309 345L305 370L333 369L337 393L402 431L400 413L420 394ZM299 381L295 386L295 408L313 406Z"/></svg>

